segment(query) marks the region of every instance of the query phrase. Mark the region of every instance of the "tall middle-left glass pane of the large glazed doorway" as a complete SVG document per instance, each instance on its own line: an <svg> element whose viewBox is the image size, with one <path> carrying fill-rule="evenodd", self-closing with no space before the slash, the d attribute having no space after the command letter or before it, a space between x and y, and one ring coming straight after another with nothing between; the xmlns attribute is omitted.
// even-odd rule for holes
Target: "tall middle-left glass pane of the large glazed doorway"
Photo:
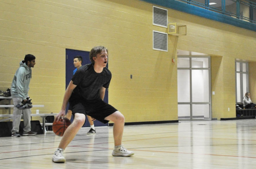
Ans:
<svg viewBox="0 0 256 169"><path fill-rule="evenodd" d="M189 70L178 70L178 102L190 102Z"/></svg>

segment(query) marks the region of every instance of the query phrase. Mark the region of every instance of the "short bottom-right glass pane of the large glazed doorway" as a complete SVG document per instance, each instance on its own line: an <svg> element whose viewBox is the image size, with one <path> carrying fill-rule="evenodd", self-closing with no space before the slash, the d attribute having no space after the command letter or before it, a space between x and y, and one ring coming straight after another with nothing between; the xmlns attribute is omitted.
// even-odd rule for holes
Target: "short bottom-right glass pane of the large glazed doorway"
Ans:
<svg viewBox="0 0 256 169"><path fill-rule="evenodd" d="M192 119L209 119L210 118L210 105L192 105Z"/></svg>

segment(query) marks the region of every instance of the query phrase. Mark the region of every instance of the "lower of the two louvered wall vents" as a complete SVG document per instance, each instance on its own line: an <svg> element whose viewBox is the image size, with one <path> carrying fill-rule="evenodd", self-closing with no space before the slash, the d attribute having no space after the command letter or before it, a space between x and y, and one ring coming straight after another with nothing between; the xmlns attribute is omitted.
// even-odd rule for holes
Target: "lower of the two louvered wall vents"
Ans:
<svg viewBox="0 0 256 169"><path fill-rule="evenodd" d="M153 31L153 49L168 52L168 34Z"/></svg>

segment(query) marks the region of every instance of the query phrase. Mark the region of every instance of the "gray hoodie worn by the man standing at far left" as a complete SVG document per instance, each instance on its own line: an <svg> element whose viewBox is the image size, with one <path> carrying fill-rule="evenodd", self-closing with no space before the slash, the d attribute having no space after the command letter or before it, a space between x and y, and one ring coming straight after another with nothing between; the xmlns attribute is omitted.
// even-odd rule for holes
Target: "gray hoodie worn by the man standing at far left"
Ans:
<svg viewBox="0 0 256 169"><path fill-rule="evenodd" d="M29 97L29 83L32 78L31 68L27 67L24 61L20 61L19 68L16 71L11 84L11 97L22 98Z"/></svg>

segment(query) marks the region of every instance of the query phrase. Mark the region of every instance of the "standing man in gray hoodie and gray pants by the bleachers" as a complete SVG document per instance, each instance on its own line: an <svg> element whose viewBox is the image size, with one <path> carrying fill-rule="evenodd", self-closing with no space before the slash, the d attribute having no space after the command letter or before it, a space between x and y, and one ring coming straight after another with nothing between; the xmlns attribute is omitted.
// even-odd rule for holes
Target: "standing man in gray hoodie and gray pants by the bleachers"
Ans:
<svg viewBox="0 0 256 169"><path fill-rule="evenodd" d="M31 54L27 54L24 58L24 61L19 63L19 68L15 73L15 76L11 84L11 96L13 100L13 120L12 120L12 137L20 137L19 135L19 124L23 114L24 119L24 128L23 136L33 136L36 135L36 132L31 131L30 124L30 115L31 109L19 109L16 105L19 105L21 102L25 104L29 97L29 83L31 75L31 68L36 64L36 57Z"/></svg>

